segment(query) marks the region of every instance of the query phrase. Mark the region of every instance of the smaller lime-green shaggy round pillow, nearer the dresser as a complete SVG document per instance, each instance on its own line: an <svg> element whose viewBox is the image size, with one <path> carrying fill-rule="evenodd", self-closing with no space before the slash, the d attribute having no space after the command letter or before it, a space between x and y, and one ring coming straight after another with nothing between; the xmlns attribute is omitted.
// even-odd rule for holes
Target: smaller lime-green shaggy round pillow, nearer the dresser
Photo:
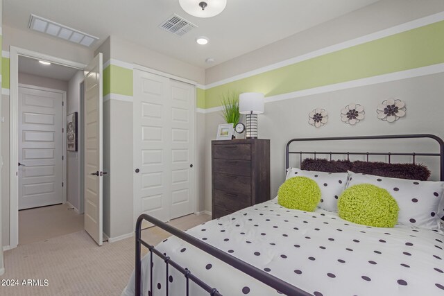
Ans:
<svg viewBox="0 0 444 296"><path fill-rule="evenodd" d="M288 209L314 211L321 200L321 189L309 177L292 177L278 191L278 203Z"/></svg>

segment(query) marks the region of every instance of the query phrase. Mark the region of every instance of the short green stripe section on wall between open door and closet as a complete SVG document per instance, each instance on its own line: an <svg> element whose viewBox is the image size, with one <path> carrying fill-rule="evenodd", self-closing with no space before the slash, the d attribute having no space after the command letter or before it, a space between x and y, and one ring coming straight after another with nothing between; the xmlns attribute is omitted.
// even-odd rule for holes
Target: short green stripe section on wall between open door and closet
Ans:
<svg viewBox="0 0 444 296"><path fill-rule="evenodd" d="M123 94L125 96L133 96L133 69L126 69L123 67L110 64L109 82L110 85L106 85L109 89L109 93ZM103 71L103 93L105 94L105 71Z"/></svg>

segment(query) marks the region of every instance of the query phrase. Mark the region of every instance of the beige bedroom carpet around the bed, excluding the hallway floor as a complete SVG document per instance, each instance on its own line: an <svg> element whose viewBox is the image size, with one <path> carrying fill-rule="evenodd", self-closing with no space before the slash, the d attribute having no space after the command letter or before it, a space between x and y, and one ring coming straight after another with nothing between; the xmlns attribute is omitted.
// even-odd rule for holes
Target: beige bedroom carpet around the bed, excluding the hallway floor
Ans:
<svg viewBox="0 0 444 296"><path fill-rule="evenodd" d="M189 215L171 220L185 230L210 220ZM142 237L160 243L169 234L157 227ZM0 286L0 295L120 295L134 269L134 237L97 246L89 235L75 232L21 245L4 253L6 272L0 279L47 279L48 286Z"/></svg>

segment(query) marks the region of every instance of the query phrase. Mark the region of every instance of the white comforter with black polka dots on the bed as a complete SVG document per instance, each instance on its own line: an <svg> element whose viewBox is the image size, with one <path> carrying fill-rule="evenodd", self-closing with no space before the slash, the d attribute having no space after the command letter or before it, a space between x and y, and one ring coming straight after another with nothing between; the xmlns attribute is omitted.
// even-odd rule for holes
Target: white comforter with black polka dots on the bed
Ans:
<svg viewBox="0 0 444 296"><path fill-rule="evenodd" d="M277 199L198 225L189 234L318 295L444 295L444 235L402 225L375 228L318 209L284 209ZM226 296L280 295L218 259L169 238L156 247ZM165 263L154 261L154 295L165 294ZM185 295L170 268L169 295ZM149 256L142 261L149 291ZM190 284L193 296L208 295ZM134 275L122 295L134 294Z"/></svg>

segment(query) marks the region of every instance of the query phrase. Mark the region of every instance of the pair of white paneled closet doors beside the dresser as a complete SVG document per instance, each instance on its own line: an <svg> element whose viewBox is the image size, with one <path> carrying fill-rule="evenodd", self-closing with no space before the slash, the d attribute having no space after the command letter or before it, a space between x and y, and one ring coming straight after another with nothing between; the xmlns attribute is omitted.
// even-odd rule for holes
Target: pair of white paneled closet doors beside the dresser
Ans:
<svg viewBox="0 0 444 296"><path fill-rule="evenodd" d="M134 218L194 210L194 86L134 71Z"/></svg>

